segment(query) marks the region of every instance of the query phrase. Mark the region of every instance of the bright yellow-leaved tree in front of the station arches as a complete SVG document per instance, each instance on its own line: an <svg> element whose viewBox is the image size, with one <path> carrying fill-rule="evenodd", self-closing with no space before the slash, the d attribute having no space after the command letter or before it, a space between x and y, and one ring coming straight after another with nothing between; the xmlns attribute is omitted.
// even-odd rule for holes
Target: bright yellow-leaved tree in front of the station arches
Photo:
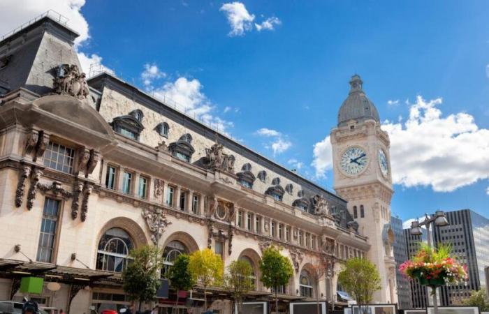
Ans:
<svg viewBox="0 0 489 314"><path fill-rule="evenodd" d="M224 264L221 256L210 248L195 251L190 255L189 272L194 282L204 288L204 307L207 311L207 287L219 285L222 281Z"/></svg>

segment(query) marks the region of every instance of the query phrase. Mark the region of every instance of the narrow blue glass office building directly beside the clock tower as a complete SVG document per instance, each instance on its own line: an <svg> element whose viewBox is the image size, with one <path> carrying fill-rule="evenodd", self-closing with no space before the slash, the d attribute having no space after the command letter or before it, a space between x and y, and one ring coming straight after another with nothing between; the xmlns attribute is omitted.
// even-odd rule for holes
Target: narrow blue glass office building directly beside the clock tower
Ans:
<svg viewBox="0 0 489 314"><path fill-rule="evenodd" d="M400 309L412 308L411 285L409 279L399 271L399 265L409 260L407 253L406 234L402 229L402 219L397 216L391 216L391 226L395 235L394 259L397 265L395 270L395 279L397 281L397 305Z"/></svg>

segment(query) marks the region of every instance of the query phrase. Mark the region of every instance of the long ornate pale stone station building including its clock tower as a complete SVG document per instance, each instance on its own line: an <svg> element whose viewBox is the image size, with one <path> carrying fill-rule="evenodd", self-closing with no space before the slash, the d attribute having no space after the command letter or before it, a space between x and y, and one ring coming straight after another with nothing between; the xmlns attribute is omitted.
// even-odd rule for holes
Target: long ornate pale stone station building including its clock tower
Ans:
<svg viewBox="0 0 489 314"><path fill-rule="evenodd" d="M1 300L119 308L129 304L120 277L129 251L150 244L163 250L163 278L177 255L202 248L225 265L246 260L256 285L248 299L270 294L258 280L270 245L294 267L289 285L276 287L282 301L333 301L340 262L368 257L383 281L376 301L397 302L388 136L378 114L342 116L345 104L363 108L360 77L331 137L335 194L114 75L87 80L77 36L44 17L0 42ZM348 147L370 160L353 174L365 156L349 155L355 165L340 169ZM314 283L319 263L326 276ZM42 276L43 292L19 292L23 276ZM212 291L212 308L231 313L226 293ZM174 296L159 299L161 313Z"/></svg>

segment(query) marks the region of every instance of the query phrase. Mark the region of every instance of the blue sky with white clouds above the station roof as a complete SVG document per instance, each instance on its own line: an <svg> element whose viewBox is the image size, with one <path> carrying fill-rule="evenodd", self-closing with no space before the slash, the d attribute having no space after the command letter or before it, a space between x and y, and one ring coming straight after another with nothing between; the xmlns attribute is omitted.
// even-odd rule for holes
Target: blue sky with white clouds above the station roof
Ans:
<svg viewBox="0 0 489 314"><path fill-rule="evenodd" d="M88 61L328 188L327 136L358 73L391 134L393 213L489 216L489 2L239 3L46 0L44 10L71 17ZM36 10L13 14L11 28Z"/></svg>

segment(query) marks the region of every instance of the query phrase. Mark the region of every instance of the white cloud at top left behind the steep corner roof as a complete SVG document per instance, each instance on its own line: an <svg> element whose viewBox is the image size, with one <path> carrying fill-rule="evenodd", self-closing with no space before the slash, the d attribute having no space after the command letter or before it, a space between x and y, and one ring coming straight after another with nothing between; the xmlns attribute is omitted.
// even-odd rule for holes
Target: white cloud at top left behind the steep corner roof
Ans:
<svg viewBox="0 0 489 314"><path fill-rule="evenodd" d="M78 52L78 48L90 38L88 22L81 13L81 8L84 5L85 0L1 0L0 36L48 10L53 10L66 17L68 27L80 34L75 39L75 49ZM56 13L50 14L54 16ZM78 52L78 58L82 70L87 74L89 74L90 64L100 64L102 60L97 54L88 55L83 52ZM109 70L103 66L99 66L99 68Z"/></svg>

